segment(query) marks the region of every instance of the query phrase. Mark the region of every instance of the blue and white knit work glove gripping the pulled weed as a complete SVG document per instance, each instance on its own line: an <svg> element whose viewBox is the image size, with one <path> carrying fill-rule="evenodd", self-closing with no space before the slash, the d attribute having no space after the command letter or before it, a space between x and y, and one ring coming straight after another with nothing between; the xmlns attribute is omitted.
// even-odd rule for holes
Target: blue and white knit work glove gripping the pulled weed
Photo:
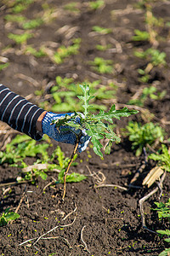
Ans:
<svg viewBox="0 0 170 256"><path fill-rule="evenodd" d="M74 115L74 113L66 113L66 114L70 116ZM77 143L77 136L72 131L76 132L77 135L80 135L78 152L81 153L87 148L88 143L90 141L90 137L86 133L85 129L81 131L79 129L76 130L71 126L67 126L67 128L69 128L69 131L58 131L55 125L51 125L52 120L57 120L63 116L65 116L65 113L59 113L59 114L52 113L52 112L46 113L46 115L42 119L42 133L47 134L48 137L54 138L54 140L57 142L69 143L69 144L75 145ZM80 118L78 116L77 116L76 122L77 123L80 122ZM60 128L62 128L62 126Z"/></svg>

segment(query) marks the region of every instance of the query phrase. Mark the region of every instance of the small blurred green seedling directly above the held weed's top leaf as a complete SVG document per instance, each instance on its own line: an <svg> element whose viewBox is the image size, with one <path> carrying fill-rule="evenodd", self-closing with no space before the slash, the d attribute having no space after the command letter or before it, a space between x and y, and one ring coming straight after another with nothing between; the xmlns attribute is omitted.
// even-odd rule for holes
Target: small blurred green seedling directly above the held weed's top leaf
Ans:
<svg viewBox="0 0 170 256"><path fill-rule="evenodd" d="M99 73L112 73L113 72L113 61L105 60L100 57L94 58L94 61L88 62L93 66L93 69Z"/></svg>

